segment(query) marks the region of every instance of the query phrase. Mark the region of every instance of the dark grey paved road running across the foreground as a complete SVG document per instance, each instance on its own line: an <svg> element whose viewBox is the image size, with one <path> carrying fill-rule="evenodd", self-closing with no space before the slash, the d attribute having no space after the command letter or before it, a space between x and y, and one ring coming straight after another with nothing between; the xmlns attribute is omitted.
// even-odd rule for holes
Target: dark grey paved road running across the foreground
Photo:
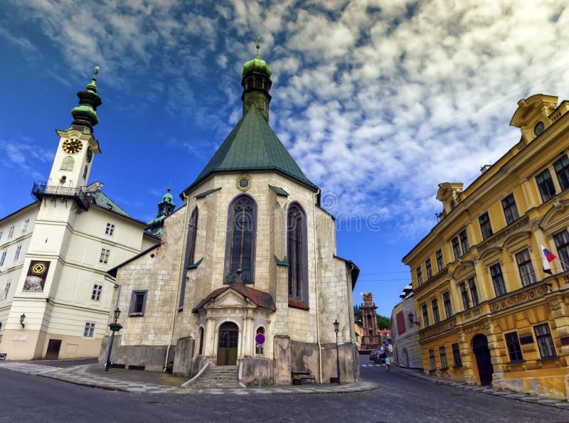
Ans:
<svg viewBox="0 0 569 423"><path fill-rule="evenodd" d="M361 377L381 388L312 395L137 394L0 369L0 423L569 421L563 409L437 385L365 359L362 364Z"/></svg>

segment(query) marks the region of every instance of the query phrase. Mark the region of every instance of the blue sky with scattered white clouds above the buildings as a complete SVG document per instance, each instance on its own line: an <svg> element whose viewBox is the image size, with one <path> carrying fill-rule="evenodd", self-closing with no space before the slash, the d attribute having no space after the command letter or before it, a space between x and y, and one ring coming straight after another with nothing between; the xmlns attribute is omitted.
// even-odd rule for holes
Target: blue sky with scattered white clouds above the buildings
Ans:
<svg viewBox="0 0 569 423"><path fill-rule="evenodd" d="M390 316L401 263L437 223L438 184L519 141L521 98L569 98L563 1L4 0L0 216L47 181L75 94L100 65L90 181L148 221L241 117L243 63L271 66L270 125L336 215L337 254Z"/></svg>

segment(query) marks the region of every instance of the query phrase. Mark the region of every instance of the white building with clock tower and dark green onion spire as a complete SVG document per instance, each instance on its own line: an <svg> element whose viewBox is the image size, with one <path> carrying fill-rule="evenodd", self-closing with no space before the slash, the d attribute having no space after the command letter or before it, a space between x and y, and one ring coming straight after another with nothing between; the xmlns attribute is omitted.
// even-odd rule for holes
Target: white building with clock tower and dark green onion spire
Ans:
<svg viewBox="0 0 569 423"><path fill-rule="evenodd" d="M58 130L36 202L0 220L0 353L7 360L98 355L113 285L105 272L155 245L147 225L88 184L100 153L95 76L78 92L73 123Z"/></svg>

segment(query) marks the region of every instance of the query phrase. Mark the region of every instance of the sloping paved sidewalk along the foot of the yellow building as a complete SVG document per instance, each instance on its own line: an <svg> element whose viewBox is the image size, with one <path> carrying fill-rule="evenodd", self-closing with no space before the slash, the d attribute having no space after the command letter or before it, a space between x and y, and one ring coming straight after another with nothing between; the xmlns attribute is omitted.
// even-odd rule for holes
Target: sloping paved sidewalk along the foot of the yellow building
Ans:
<svg viewBox="0 0 569 423"><path fill-rule="evenodd" d="M428 380L432 383L437 383L438 385L449 385L452 387L457 387L464 390L472 390L476 392L482 392L486 395L495 395L496 397L509 398L511 400L531 402L533 404L546 405L548 407L555 407L560 409L569 410L569 402L564 400L553 400L547 397L538 397L536 395L522 394L519 392L514 392L510 390L499 390L491 386L479 386L479 385L468 385L464 382L457 382L456 380L448 380L435 378L435 376L427 376L422 370L400 368L398 365L391 365L391 368L397 370L400 373L405 373L405 375L412 376L413 378L418 378L422 380Z"/></svg>

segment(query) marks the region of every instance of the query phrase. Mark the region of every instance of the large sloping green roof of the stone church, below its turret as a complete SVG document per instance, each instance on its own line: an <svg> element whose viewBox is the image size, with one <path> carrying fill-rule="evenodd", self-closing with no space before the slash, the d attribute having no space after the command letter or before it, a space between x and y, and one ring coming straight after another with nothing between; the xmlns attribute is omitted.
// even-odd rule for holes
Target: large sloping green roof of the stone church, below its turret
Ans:
<svg viewBox="0 0 569 423"><path fill-rule="evenodd" d="M257 107L250 107L186 191L218 172L279 171L316 191Z"/></svg>

